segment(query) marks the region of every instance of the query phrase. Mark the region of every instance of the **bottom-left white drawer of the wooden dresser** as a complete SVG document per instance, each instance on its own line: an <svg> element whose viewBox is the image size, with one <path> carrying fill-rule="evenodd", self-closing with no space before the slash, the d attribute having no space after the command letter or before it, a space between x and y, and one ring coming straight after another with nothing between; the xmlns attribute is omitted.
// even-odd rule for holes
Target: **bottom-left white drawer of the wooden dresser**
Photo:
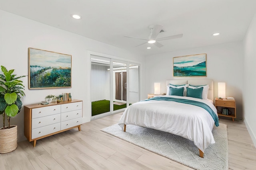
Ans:
<svg viewBox="0 0 256 170"><path fill-rule="evenodd" d="M35 139L35 138L48 135L57 131L60 131L60 123L55 123L52 125L32 129L31 139Z"/></svg>

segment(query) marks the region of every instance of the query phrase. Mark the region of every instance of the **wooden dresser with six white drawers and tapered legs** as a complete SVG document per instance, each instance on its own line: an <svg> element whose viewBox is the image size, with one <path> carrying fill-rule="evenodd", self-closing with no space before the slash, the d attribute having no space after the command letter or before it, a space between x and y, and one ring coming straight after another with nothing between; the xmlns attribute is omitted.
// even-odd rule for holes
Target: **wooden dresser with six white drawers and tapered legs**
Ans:
<svg viewBox="0 0 256 170"><path fill-rule="evenodd" d="M24 106L24 135L28 141L67 131L82 125L82 100Z"/></svg>

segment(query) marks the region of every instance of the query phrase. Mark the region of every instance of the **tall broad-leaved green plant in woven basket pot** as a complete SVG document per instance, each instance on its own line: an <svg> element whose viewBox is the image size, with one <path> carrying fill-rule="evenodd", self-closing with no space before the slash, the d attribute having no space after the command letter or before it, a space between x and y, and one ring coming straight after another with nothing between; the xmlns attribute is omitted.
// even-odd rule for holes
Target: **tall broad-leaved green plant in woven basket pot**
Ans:
<svg viewBox="0 0 256 170"><path fill-rule="evenodd" d="M15 77L14 70L1 66L0 74L0 114L3 116L3 127L0 128L0 153L7 153L17 148L17 125L10 125L10 118L16 116L22 107L21 96L25 96L21 80L25 76ZM7 118L8 126L5 126Z"/></svg>

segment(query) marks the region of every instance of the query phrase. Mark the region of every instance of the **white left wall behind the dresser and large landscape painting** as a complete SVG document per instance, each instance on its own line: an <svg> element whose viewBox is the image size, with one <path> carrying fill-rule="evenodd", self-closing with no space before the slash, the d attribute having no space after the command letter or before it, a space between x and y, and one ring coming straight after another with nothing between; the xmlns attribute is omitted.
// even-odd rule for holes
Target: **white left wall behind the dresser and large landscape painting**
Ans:
<svg viewBox="0 0 256 170"><path fill-rule="evenodd" d="M23 78L26 93L26 97L22 98L23 106L40 103L48 94L69 92L72 99L83 100L84 121L90 121L90 114L86 111L87 100L90 100L87 99L87 82L90 82L86 63L90 61L88 51L144 61L144 57L129 51L0 10L1 65L6 66L8 70L15 69L14 73L18 76L28 75L28 47L72 55L72 88L28 90L28 77ZM11 118L11 124L18 125L18 141L26 139L23 132L23 116L24 107L16 117Z"/></svg>

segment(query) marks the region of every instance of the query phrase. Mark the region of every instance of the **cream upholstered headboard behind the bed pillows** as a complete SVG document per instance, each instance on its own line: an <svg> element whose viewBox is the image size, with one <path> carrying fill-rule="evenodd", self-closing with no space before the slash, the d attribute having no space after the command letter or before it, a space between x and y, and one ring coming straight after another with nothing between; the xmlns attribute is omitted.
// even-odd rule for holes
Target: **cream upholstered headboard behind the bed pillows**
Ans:
<svg viewBox="0 0 256 170"><path fill-rule="evenodd" d="M213 80L212 79L172 79L166 80L167 84L182 85L182 84L191 84L191 85L209 85L208 90L208 99L214 101L213 98Z"/></svg>

